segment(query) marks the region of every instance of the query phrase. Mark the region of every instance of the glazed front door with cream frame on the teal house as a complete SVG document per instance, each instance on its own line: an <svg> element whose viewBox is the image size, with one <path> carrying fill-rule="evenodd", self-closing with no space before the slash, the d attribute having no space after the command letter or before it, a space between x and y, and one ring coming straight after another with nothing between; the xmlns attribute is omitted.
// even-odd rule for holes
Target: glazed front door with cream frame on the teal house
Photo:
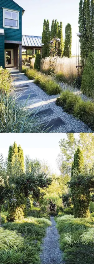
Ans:
<svg viewBox="0 0 94 264"><path fill-rule="evenodd" d="M13 49L5 49L5 67L13 67Z"/></svg>

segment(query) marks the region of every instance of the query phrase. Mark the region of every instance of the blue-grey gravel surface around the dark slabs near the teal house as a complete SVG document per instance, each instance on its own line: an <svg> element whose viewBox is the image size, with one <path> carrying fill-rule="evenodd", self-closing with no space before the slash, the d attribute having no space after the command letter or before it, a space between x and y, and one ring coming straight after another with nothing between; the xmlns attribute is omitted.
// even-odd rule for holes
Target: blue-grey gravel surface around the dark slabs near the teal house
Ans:
<svg viewBox="0 0 94 264"><path fill-rule="evenodd" d="M82 121L74 118L71 114L67 114L64 112L62 107L56 105L56 98L59 97L60 95L52 95L49 96L47 95L40 87L38 87L36 84L33 83L33 80L29 80L27 76L25 76L23 73L13 73L13 77L19 78L18 80L15 79L13 82L13 86L16 88L20 88L22 85L26 86L29 85L27 90L25 91L25 88L23 88L23 91L18 91L16 92L16 96L22 96L22 95L27 95L29 96L30 93L36 94L35 97L30 98L27 103L31 103L36 100L40 101L38 103L38 108L34 108L35 112L51 108L53 110L53 114L40 117L37 119L37 124L42 124L45 123L46 121L49 123L50 120L52 119L57 119L61 118L62 121L65 123L58 128L55 128L54 130L51 131L51 133L58 133L58 132L90 132L92 133L92 130L84 124ZM20 79L21 78L21 79ZM15 92L13 92L15 93ZM25 104L26 100L19 100L19 103ZM34 107L34 106L33 106ZM32 111L32 107L27 107L28 111ZM57 120L58 122L58 120ZM71 131L73 130L73 131Z"/></svg>

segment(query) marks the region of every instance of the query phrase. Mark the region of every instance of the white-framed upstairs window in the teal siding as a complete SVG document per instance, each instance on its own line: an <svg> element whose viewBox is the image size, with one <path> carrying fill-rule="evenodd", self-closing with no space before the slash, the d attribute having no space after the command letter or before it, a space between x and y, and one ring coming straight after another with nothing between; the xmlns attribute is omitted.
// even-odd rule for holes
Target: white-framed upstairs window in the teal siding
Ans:
<svg viewBox="0 0 94 264"><path fill-rule="evenodd" d="M19 29L19 11L3 8L3 27Z"/></svg>

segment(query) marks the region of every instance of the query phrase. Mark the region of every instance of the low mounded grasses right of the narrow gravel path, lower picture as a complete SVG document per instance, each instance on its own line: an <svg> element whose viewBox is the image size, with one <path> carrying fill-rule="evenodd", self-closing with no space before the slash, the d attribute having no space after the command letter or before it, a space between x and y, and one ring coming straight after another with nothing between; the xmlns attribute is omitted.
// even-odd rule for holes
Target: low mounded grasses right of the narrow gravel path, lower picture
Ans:
<svg viewBox="0 0 94 264"><path fill-rule="evenodd" d="M55 217L65 263L93 263L93 219L73 215Z"/></svg>

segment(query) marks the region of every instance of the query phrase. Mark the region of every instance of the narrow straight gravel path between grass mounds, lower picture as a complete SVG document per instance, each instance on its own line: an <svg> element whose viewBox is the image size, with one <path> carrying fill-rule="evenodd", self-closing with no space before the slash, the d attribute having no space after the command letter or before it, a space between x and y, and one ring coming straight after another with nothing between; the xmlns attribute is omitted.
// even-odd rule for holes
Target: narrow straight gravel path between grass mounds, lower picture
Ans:
<svg viewBox="0 0 94 264"><path fill-rule="evenodd" d="M50 216L52 226L47 228L47 235L43 239L43 251L40 255L42 264L60 264L62 261L62 251L59 249L59 234L56 228L56 222L53 216Z"/></svg>

